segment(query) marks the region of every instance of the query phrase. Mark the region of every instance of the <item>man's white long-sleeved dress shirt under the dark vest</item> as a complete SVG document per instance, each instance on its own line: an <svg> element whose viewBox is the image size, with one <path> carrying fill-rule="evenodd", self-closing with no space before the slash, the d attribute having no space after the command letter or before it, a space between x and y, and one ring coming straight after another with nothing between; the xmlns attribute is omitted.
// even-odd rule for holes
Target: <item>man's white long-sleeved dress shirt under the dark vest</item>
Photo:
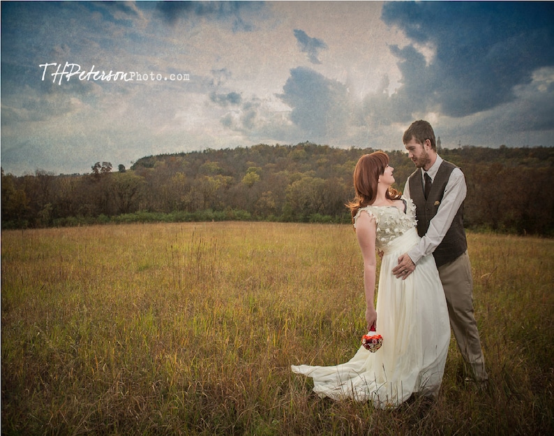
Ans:
<svg viewBox="0 0 554 436"><path fill-rule="evenodd" d="M435 160L435 163L427 172L431 177L431 181L435 180L441 163L442 158L437 155L437 160ZM424 169L421 168L420 171L422 173L421 179L423 179ZM421 257L433 253L435 248L442 242L444 235L447 234L452 225L454 216L456 216L463 200L465 200L466 194L467 187L465 186L465 176L460 168L454 168L448 179L447 186L444 188L444 196L440 202L437 214L429 223L427 233L421 238L419 244L407 253L414 264L417 264ZM406 181L406 186L404 187L404 196L411 198L410 183L408 181Z"/></svg>

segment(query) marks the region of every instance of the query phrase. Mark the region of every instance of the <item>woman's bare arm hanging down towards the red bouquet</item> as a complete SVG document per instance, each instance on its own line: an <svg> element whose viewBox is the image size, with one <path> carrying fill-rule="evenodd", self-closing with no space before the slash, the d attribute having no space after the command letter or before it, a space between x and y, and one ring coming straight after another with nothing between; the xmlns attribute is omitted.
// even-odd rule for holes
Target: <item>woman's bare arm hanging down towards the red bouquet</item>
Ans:
<svg viewBox="0 0 554 436"><path fill-rule="evenodd" d="M356 222L356 236L364 257L364 290L366 293L366 322L367 331L372 325L377 326L377 312L375 312L375 233L377 225L375 218L369 213L361 213Z"/></svg>

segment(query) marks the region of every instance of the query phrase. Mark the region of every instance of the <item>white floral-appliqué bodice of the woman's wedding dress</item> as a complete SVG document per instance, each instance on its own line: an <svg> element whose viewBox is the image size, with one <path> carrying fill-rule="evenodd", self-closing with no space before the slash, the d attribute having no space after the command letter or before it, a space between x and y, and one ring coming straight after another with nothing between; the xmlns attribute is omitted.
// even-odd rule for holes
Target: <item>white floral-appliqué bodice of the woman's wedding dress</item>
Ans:
<svg viewBox="0 0 554 436"><path fill-rule="evenodd" d="M381 250L384 246L417 224L415 205L411 199L402 197L406 204L406 211L400 211L396 206L366 206L359 209L354 217L354 228L360 213L366 211L377 224L377 239L375 247Z"/></svg>

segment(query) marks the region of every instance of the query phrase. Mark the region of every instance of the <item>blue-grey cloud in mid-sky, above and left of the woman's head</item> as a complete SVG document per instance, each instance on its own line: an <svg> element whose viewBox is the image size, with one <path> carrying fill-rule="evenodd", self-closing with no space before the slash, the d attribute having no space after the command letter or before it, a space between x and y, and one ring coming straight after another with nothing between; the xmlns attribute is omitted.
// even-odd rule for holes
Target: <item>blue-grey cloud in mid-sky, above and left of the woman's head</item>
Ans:
<svg viewBox="0 0 554 436"><path fill-rule="evenodd" d="M345 85L340 82L310 68L294 68L279 97L292 107L290 120L312 138L345 133L349 99Z"/></svg>

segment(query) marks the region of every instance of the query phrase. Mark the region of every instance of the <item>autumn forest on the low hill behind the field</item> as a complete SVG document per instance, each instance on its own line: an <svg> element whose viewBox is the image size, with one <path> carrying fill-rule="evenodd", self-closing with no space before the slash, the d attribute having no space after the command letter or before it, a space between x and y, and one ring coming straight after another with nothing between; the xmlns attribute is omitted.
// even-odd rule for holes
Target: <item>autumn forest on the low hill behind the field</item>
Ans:
<svg viewBox="0 0 554 436"><path fill-rule="evenodd" d="M352 172L375 149L303 142L257 144L109 162L87 174L1 173L1 227L266 220L350 223ZM554 148L440 149L467 181L465 227L554 236ZM414 171L405 151L387 151L396 188Z"/></svg>

